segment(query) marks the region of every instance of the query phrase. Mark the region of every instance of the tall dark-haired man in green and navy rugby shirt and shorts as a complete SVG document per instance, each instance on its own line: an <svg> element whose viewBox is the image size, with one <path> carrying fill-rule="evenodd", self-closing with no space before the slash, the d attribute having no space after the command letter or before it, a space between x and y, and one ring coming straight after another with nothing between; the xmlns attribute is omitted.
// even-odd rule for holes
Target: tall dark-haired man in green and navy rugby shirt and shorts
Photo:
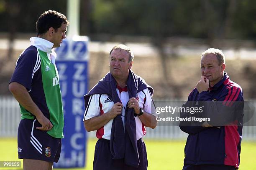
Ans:
<svg viewBox="0 0 256 170"><path fill-rule="evenodd" d="M63 138L63 108L56 53L66 38L69 21L56 11L44 12L36 23L37 37L16 62L9 90L20 104L18 157L24 170L51 170L58 162Z"/></svg>

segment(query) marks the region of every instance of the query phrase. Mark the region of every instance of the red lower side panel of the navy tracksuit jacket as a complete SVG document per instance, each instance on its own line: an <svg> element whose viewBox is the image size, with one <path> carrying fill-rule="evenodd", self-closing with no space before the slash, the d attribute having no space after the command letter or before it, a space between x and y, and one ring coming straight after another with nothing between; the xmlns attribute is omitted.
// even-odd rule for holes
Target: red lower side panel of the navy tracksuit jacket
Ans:
<svg viewBox="0 0 256 170"><path fill-rule="evenodd" d="M225 165L235 166L238 168L238 150L239 133L238 126L225 126Z"/></svg>

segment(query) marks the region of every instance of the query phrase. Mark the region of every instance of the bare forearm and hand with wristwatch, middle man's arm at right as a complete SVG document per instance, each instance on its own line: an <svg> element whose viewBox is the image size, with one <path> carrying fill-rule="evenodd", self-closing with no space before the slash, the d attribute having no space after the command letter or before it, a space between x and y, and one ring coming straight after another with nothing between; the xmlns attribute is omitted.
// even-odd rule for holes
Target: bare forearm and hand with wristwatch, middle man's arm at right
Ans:
<svg viewBox="0 0 256 170"><path fill-rule="evenodd" d="M128 107L133 108L134 112L138 115L140 114L140 107L138 104L138 100L134 97L132 97L128 102ZM143 125L149 128L156 128L157 120L156 117L150 113L144 112L143 115L139 116L141 122Z"/></svg>

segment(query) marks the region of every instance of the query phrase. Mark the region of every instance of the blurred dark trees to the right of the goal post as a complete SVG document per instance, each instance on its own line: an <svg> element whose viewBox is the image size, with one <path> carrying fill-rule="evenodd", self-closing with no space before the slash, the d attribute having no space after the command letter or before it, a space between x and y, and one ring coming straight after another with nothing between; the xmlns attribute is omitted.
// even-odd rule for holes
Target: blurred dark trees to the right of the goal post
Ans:
<svg viewBox="0 0 256 170"><path fill-rule="evenodd" d="M94 0L92 3L91 32L256 38L254 0Z"/></svg>

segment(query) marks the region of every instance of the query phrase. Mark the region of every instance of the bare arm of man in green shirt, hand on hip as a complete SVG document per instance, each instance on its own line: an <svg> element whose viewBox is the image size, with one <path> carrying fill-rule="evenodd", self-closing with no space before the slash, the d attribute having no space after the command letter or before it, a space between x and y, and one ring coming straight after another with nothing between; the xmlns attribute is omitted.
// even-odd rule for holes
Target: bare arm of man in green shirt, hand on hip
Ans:
<svg viewBox="0 0 256 170"><path fill-rule="evenodd" d="M36 119L42 125L42 127L36 127L36 129L51 130L53 125L51 124L50 120L44 116L38 106L33 102L26 87L18 82L11 82L9 85L9 90L15 99L20 103L20 105L25 107L26 110L36 116Z"/></svg>

